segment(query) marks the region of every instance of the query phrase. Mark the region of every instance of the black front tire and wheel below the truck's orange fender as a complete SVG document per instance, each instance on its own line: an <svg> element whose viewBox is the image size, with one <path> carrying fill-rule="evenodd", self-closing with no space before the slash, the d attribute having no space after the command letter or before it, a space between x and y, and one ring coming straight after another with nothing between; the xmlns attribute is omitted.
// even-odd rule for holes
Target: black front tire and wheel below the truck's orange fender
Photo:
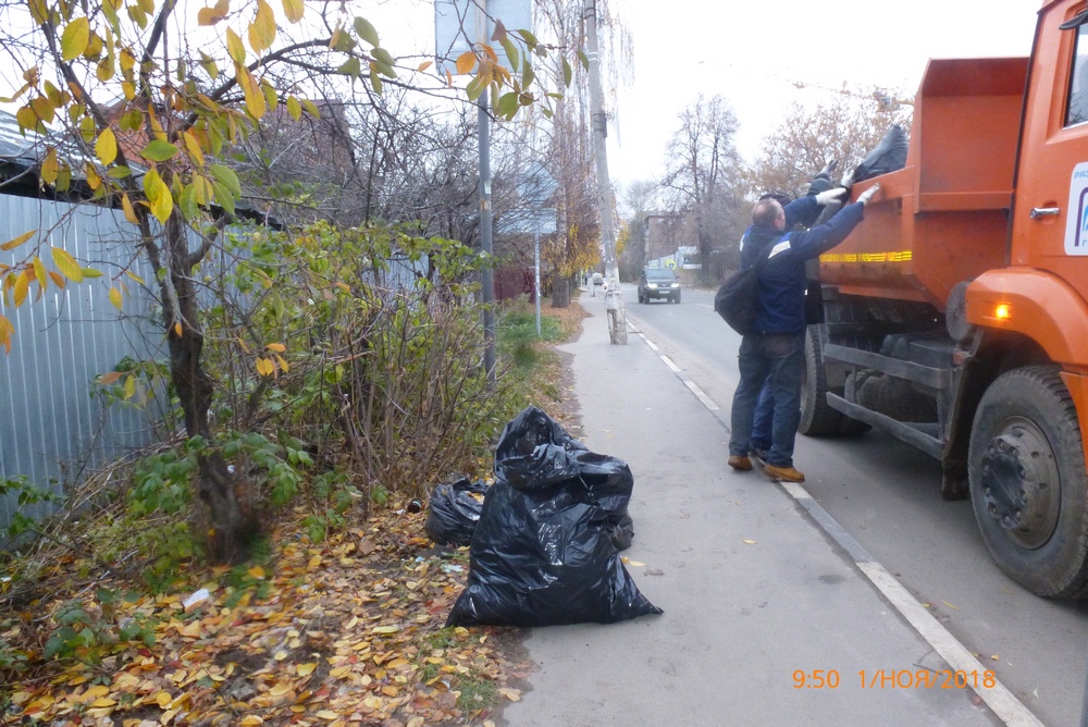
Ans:
<svg viewBox="0 0 1088 727"><path fill-rule="evenodd" d="M999 377L975 414L970 501L990 555L1046 597L1088 594L1088 476L1076 408L1056 367Z"/></svg>

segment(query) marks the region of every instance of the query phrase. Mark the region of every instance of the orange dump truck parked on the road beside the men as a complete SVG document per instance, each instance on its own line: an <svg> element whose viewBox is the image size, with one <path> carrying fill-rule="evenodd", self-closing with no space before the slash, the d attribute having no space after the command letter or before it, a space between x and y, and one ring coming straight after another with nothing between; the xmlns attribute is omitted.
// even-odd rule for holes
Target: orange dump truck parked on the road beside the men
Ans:
<svg viewBox="0 0 1088 727"><path fill-rule="evenodd" d="M918 447L1002 570L1088 595L1088 3L1044 3L1030 58L930 61L877 182L820 259L802 433Z"/></svg>

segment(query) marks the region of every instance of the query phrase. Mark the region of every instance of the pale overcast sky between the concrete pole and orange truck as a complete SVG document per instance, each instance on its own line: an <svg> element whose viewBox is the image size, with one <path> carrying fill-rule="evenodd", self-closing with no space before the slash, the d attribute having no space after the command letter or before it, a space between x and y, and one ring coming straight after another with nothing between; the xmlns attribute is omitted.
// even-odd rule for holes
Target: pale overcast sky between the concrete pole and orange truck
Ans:
<svg viewBox="0 0 1088 727"><path fill-rule="evenodd" d="M721 94L754 161L792 101L850 88L913 95L930 58L1027 56L1041 0L609 0L634 37L634 83L616 88L609 172L656 176L677 114ZM777 13L772 15L771 12Z"/></svg>

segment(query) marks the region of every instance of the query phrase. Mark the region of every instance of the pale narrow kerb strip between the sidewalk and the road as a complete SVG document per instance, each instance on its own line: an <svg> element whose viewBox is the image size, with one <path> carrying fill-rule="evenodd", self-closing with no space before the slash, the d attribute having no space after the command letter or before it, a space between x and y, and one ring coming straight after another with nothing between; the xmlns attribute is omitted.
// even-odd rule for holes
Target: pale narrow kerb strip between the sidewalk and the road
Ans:
<svg viewBox="0 0 1088 727"><path fill-rule="evenodd" d="M684 375L676 364L672 362L660 349L651 341L646 334L636 329L630 321L628 328L657 354L665 365L678 379L687 386L695 397L705 406L714 417L721 422L726 431L730 431L729 421L721 407L715 404L714 399L707 396L695 382ZM869 580L881 595L906 619L906 623L928 643L934 651L941 655L948 665L955 670L966 673L987 671L986 666L964 646L952 633L938 621L932 614L926 611L918 600L911 595L911 592L895 579L888 569L880 565L865 547L858 543L850 532L828 513L823 505L816 502L803 485L796 482L779 482L779 485L793 497L808 516L816 522L831 540L841 547L853 560L858 570ZM1000 681L994 686L981 690L973 690L979 699L986 702L994 715L1009 727L1042 727L1038 717L1031 714L1023 702Z"/></svg>

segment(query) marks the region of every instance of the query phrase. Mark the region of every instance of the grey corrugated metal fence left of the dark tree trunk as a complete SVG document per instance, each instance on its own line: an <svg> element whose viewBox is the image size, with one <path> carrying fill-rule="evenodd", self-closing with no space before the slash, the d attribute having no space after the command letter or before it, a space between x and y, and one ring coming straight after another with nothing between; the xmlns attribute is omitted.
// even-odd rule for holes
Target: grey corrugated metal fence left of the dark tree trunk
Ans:
<svg viewBox="0 0 1088 727"><path fill-rule="evenodd" d="M91 395L92 382L126 356L156 356L161 333L147 321L147 293L123 274L151 280L133 245L136 227L121 212L0 195L0 242L30 230L40 231L48 269L48 247L55 246L104 273L64 289L50 284L40 300L0 308L15 326L11 354L0 352L0 480L23 476L59 490L78 475L76 468L97 467L151 440L153 412L108 407ZM22 260L32 244L0 251L0 262ZM121 311L109 300L111 284L124 286ZM0 498L0 527L11 521L16 504Z"/></svg>

